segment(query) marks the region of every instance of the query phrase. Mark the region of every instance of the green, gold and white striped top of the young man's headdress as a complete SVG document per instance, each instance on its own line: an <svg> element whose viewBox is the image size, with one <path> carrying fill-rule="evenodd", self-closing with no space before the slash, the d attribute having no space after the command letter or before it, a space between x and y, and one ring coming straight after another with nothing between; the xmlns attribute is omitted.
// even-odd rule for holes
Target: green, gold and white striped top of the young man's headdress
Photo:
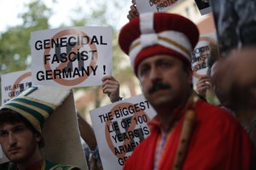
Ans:
<svg viewBox="0 0 256 170"><path fill-rule="evenodd" d="M70 93L71 91L65 88L48 86L28 88L2 105L0 111L3 109L16 111L30 122L38 133L42 133L45 119L61 105Z"/></svg>

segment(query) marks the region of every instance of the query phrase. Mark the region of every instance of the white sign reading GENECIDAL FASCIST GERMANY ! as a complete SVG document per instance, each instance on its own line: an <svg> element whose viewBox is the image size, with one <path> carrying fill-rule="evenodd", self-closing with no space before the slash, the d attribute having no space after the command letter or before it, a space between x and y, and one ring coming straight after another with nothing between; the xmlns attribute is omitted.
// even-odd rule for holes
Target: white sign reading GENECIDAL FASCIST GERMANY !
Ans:
<svg viewBox="0 0 256 170"><path fill-rule="evenodd" d="M32 32L32 81L61 87L102 84L112 72L110 27L84 26Z"/></svg>

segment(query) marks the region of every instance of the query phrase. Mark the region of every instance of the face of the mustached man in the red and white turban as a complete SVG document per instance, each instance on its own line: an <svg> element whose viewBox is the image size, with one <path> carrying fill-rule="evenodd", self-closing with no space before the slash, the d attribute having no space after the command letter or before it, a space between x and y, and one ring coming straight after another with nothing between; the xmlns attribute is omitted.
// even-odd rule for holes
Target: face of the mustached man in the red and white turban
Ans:
<svg viewBox="0 0 256 170"><path fill-rule="evenodd" d="M143 59L138 65L137 76L143 94L156 110L180 105L192 83L192 71L185 71L181 59L167 54Z"/></svg>

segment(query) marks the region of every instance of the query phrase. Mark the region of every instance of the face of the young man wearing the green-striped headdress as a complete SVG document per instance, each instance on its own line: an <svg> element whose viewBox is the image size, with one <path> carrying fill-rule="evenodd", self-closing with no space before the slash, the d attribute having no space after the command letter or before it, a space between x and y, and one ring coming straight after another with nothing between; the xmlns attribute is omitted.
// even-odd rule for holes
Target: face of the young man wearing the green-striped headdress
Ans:
<svg viewBox="0 0 256 170"><path fill-rule="evenodd" d="M0 126L0 144L5 155L14 163L29 161L40 139L23 122L3 123Z"/></svg>

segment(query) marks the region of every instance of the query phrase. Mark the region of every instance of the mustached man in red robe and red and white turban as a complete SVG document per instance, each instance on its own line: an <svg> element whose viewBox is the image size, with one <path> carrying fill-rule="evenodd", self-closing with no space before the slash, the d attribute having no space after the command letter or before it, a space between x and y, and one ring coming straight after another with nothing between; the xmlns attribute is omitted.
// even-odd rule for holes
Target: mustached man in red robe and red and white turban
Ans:
<svg viewBox="0 0 256 170"><path fill-rule="evenodd" d="M193 91L190 54L195 24L178 14L140 14L119 32L143 94L157 112L150 135L124 169L250 169L255 148L228 111Z"/></svg>

